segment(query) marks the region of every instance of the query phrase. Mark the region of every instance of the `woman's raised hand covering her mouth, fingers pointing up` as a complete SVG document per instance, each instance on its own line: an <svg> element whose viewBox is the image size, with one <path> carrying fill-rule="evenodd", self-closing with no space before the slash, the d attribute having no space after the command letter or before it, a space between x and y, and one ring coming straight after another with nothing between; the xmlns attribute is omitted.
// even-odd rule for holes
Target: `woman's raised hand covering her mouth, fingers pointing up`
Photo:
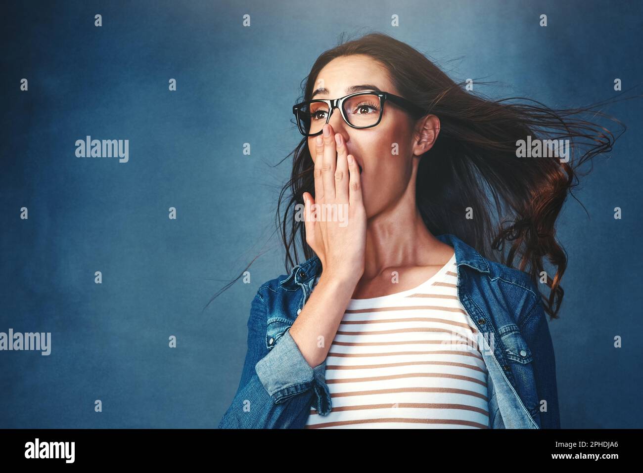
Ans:
<svg viewBox="0 0 643 473"><path fill-rule="evenodd" d="M303 193L306 242L319 256L324 273L357 283L364 273L366 251L359 167L354 156L347 154L341 134L335 134L331 125L325 127L329 136L315 138L316 199Z"/></svg>

